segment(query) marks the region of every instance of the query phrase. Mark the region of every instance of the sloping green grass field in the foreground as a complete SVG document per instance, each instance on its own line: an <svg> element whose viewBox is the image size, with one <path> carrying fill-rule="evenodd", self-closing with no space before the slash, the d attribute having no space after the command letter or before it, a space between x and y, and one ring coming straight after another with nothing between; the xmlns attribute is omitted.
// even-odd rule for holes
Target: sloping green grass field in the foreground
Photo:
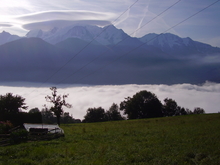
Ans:
<svg viewBox="0 0 220 165"><path fill-rule="evenodd" d="M0 147L0 164L220 164L220 114L61 127L63 138Z"/></svg>

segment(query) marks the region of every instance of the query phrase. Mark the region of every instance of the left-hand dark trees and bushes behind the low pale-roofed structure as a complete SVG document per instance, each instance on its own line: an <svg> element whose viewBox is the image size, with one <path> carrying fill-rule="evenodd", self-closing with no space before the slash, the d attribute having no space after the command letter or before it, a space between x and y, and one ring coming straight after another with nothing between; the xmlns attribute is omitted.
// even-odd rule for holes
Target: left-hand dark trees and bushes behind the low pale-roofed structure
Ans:
<svg viewBox="0 0 220 165"><path fill-rule="evenodd" d="M54 88L53 88L54 89ZM42 111L38 108L33 108L29 112L27 110L25 98L19 95L13 95L12 93L6 93L5 95L0 95L0 121L6 122L10 121L14 126L22 125L23 123L57 123L57 115L59 115L59 121L62 123L79 123L81 120L74 119L68 112L63 113L62 106L67 105L64 95L62 98L60 95L56 95L53 91L53 99L58 102L50 109L44 107ZM58 111L56 111L56 109ZM60 113L60 114L58 114Z"/></svg>

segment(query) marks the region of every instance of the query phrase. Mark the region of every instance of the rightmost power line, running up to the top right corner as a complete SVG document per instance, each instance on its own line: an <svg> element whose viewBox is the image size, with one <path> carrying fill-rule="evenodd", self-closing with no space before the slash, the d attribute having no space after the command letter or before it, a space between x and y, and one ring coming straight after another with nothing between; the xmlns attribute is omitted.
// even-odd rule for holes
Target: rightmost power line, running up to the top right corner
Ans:
<svg viewBox="0 0 220 165"><path fill-rule="evenodd" d="M174 26L170 27L169 29L165 30L165 31L162 32L161 34L157 35L156 37L153 37L152 39L148 40L147 42L145 42L145 43L143 43L143 44L141 44L141 45L139 45L139 46L137 46L136 48L130 50L129 52L127 52L127 53L125 53L125 54L122 54L121 56L119 56L118 58L116 58L115 60L113 60L112 62L109 62L108 64L106 64L106 65L100 67L99 69L96 69L95 71L91 72L90 74L88 74L88 75L86 75L86 76L84 76L84 77L78 79L77 81L80 81L80 80L82 80L82 79L84 79L84 78L86 78L86 77L89 77L89 76L91 76L92 74L98 72L99 70L101 70L101 69L107 67L108 65L110 65L110 64L112 64L112 63L118 61L119 59L121 59L121 58L124 57L125 55L128 55L129 53L133 52L134 50L139 49L139 48L142 47L143 45L147 44L148 42L150 42L150 41L152 41L152 40L154 40L154 39L156 39L156 38L158 38L158 37L161 36L162 34L168 32L169 30L171 30L171 29L173 29L173 28L175 28L176 26L179 26L179 25L182 24L183 22L185 22L185 21L187 21L188 19L194 17L195 15L197 15L197 14L203 12L204 10L206 10L207 8L213 6L214 4L218 3L219 1L220 1L220 0L217 0L217 1L213 2L212 4L206 6L205 8L199 10L198 12L194 13L193 15L191 15L191 16L185 18L184 20L180 21L179 23L175 24ZM75 81L75 82L77 82L77 81Z"/></svg>

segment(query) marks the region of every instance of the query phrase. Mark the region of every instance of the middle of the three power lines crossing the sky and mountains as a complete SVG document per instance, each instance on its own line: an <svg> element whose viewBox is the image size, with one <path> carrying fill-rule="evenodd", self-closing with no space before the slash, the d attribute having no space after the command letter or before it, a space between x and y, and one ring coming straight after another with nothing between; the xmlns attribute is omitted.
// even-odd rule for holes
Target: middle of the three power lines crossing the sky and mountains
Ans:
<svg viewBox="0 0 220 165"><path fill-rule="evenodd" d="M162 15L163 13L165 13L166 11L168 11L169 9L171 9L173 6L175 6L176 4L178 4L181 0L175 2L174 4L172 4L171 6L169 6L167 9L165 9L164 11L162 11L160 14L156 15L154 18L152 18L150 21L148 21L147 23L145 23L144 25L142 25L141 27L139 27L138 29L136 29L134 32L132 32L131 34L129 34L127 37L125 37L123 40L121 40L120 42L118 42L117 44L115 44L112 48L114 48L115 46L117 46L118 44L122 43L123 41L125 41L127 38L129 38L132 34L134 34L135 32L137 32L138 30L140 30L141 28L143 28L144 26L146 26L147 24L149 24L150 22L152 22L153 20L155 20L157 17L159 17L160 15ZM124 12L125 13L125 12ZM103 54L105 54L107 51L105 51ZM60 84L61 82L65 81L66 79L68 79L69 77L73 76L74 74L76 74L77 72L79 72L80 70L82 70L83 68L85 68L86 66L88 66L89 64L93 63L95 60L97 60L99 57L103 56L103 54L100 54L99 56L97 56L96 58L94 58L92 61L88 62L87 64L85 64L84 66L82 66L81 68L79 68L78 70L76 70L75 72L73 72L71 75L69 75L68 77L62 79L61 81L59 81L57 84Z"/></svg>

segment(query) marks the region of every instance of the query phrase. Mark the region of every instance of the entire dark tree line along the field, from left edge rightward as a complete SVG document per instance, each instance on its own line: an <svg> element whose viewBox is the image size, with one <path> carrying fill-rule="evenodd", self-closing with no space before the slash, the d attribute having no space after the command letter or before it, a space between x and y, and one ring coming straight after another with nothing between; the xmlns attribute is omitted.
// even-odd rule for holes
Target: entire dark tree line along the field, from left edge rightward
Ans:
<svg viewBox="0 0 220 165"><path fill-rule="evenodd" d="M52 107L46 106L40 111L38 108L33 108L29 112L27 110L25 98L19 95L7 93L0 95L0 121L11 121L13 125L23 123L78 123L79 119L74 119L68 112L63 111L63 106L70 108L71 105L66 103L68 95L57 95L57 88L50 88L51 96L46 96L46 100L53 104ZM149 91L140 91L127 97L120 103L120 106L113 103L108 110L102 107L89 108L84 116L83 122L103 122L126 119L121 115L121 112L127 119L141 119L154 117L167 117L188 114L203 114L205 110L196 107L194 111L178 106L175 100L170 98L164 99L164 104L160 102L157 96Z"/></svg>

